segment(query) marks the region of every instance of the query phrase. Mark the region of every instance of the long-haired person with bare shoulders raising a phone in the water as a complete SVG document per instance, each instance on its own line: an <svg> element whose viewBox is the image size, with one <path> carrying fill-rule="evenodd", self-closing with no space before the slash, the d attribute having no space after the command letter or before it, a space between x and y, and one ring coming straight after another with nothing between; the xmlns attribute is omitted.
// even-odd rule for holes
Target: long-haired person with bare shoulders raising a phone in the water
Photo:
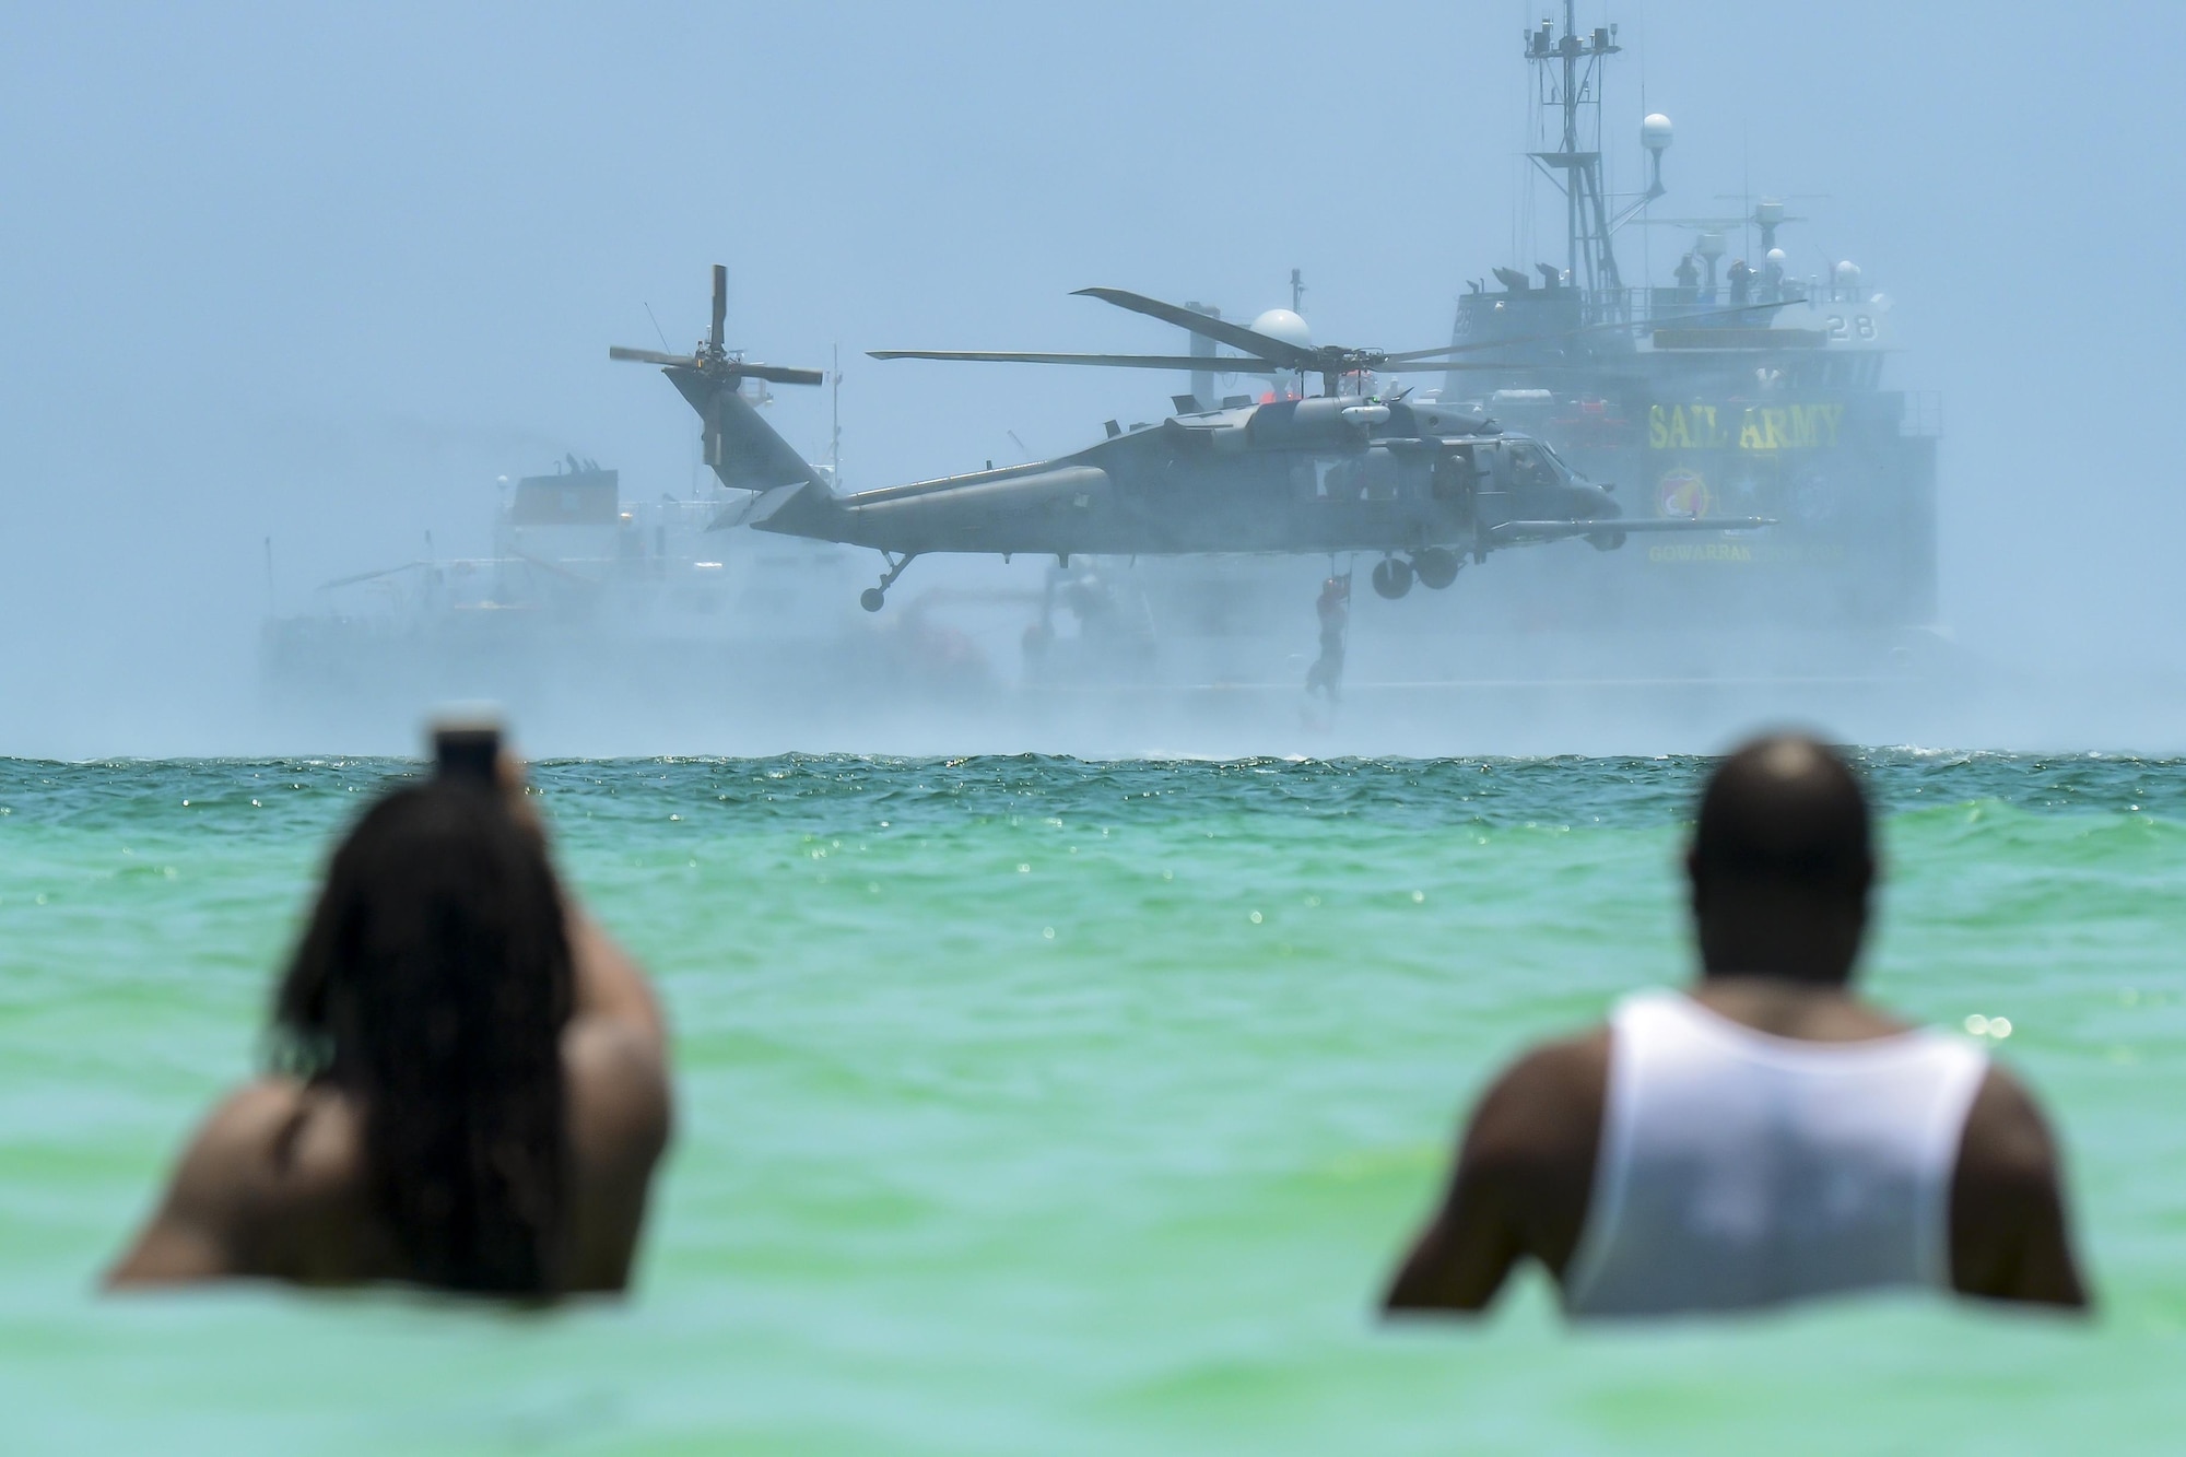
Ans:
<svg viewBox="0 0 2186 1457"><path fill-rule="evenodd" d="M627 1284L669 1133L660 1009L505 779L396 790L350 831L267 1074L212 1114L109 1284Z"/></svg>

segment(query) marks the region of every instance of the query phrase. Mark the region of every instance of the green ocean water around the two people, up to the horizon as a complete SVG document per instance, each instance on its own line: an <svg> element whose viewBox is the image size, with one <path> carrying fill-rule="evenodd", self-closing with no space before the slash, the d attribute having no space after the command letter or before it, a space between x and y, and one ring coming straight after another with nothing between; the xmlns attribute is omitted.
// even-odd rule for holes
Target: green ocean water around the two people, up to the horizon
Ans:
<svg viewBox="0 0 2186 1457"><path fill-rule="evenodd" d="M1685 976L1696 759L538 766L673 1017L634 1297L101 1299L407 766L0 761L0 1450L2179 1450L2186 761L1865 764L1869 984L2009 1019L2090 1324L1373 1319L1482 1081Z"/></svg>

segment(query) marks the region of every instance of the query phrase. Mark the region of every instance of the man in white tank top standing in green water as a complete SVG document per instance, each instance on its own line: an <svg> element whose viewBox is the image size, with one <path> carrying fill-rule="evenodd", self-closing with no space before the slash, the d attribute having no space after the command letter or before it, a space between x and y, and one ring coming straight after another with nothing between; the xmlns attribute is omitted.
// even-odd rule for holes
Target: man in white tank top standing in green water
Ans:
<svg viewBox="0 0 2186 1457"><path fill-rule="evenodd" d="M2085 1306L2026 1089L1852 995L1876 879L1852 770L1803 737L1740 748L1685 866L1699 984L1489 1087L1386 1308L1482 1310L1526 1256L1574 1317L1893 1286Z"/></svg>

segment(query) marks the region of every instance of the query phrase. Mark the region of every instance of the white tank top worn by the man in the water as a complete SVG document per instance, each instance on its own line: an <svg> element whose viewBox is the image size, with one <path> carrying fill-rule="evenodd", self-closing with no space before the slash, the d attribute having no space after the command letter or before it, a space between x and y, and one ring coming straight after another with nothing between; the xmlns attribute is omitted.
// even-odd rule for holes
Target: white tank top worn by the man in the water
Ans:
<svg viewBox="0 0 2186 1457"><path fill-rule="evenodd" d="M1987 1054L1939 1033L1797 1041L1674 991L1609 1019L1572 1315L1950 1286L1950 1179Z"/></svg>

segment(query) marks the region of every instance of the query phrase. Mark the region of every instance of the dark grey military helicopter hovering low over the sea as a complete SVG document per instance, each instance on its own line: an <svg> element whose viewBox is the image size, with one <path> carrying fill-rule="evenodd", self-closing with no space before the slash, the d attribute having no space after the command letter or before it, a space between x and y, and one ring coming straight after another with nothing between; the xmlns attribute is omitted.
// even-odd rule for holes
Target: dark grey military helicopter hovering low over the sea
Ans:
<svg viewBox="0 0 2186 1457"><path fill-rule="evenodd" d="M1613 551L1633 532L1738 532L1766 518L1629 521L1607 486L1574 473L1539 440L1493 420L1397 389L1371 394L1371 376L1467 368L1443 346L1388 354L1314 346L1298 328L1277 337L1124 289L1080 289L1089 298L1174 324L1239 354L1027 354L966 350L877 350L877 359L1069 363L1130 370L1218 370L1224 374L1320 376L1320 394L1233 396L1209 409L1174 396L1161 424L1121 429L1071 455L973 470L907 486L835 494L826 479L776 435L741 392L745 378L818 385L820 370L750 363L721 348L726 269L713 271L713 330L691 354L608 350L610 359L662 365L702 420L706 464L732 488L756 492L717 525L874 547L885 571L859 595L879 613L888 588L920 556L1196 556L1196 553L1379 553L1373 586L1403 597L1412 582L1445 588L1467 558L1500 547L1585 536ZM1493 348L1508 348L1500 341ZM1347 394L1344 381L1355 389ZM1270 392L1272 396L1274 392ZM1303 392L1298 392L1303 394Z"/></svg>

